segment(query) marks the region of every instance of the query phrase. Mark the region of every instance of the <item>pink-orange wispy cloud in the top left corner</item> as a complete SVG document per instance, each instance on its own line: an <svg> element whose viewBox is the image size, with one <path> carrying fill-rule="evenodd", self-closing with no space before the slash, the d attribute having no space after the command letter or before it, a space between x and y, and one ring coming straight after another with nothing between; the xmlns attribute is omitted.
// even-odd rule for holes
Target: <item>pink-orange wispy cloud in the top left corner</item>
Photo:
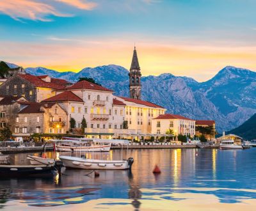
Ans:
<svg viewBox="0 0 256 211"><path fill-rule="evenodd" d="M31 19L41 21L51 21L49 15L58 17L70 17L65 13L58 12L53 6L39 3L33 0L2 0L0 12L9 15L15 20ZM20 20L21 21L21 20Z"/></svg>

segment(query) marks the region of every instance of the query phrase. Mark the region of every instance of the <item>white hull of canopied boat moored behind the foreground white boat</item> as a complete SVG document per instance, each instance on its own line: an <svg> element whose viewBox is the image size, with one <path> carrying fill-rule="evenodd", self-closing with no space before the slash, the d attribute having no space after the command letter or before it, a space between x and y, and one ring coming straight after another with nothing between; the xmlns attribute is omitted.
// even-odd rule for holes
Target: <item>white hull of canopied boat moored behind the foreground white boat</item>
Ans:
<svg viewBox="0 0 256 211"><path fill-rule="evenodd" d="M110 145L104 146L64 146L56 145L56 150L60 152L109 152Z"/></svg>

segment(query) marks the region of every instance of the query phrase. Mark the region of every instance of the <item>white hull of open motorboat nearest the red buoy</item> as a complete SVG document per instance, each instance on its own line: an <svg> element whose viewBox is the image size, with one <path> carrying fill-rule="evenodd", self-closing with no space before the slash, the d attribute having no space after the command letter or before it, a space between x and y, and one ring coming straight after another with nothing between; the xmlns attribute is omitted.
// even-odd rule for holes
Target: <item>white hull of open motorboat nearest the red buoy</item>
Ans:
<svg viewBox="0 0 256 211"><path fill-rule="evenodd" d="M122 170L131 167L129 160L95 160L62 155L60 159L66 168Z"/></svg>

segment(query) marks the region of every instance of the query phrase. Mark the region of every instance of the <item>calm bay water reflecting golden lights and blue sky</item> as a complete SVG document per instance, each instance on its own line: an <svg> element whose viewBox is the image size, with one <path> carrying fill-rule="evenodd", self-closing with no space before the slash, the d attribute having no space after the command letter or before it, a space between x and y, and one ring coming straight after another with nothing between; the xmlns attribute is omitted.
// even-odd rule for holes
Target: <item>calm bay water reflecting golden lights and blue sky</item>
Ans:
<svg viewBox="0 0 256 211"><path fill-rule="evenodd" d="M12 155L12 162L26 164L26 155ZM86 176L89 172L86 170L63 169L65 175L61 181L57 178L1 180L0 208L256 210L256 148L129 150L128 156L135 160L131 173L99 171L100 176L94 178ZM120 150L94 153L94 157L120 159ZM162 171L157 176L152 174L155 164Z"/></svg>

